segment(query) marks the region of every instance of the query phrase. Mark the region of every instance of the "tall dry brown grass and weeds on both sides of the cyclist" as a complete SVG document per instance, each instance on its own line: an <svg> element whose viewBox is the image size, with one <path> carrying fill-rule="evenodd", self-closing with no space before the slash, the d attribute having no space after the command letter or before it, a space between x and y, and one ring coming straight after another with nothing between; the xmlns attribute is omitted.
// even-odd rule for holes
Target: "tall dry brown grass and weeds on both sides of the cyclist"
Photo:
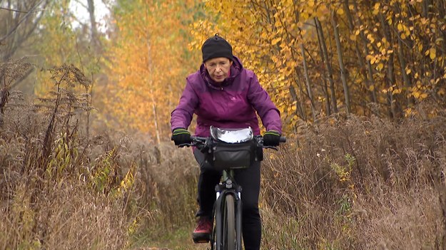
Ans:
<svg viewBox="0 0 446 250"><path fill-rule="evenodd" d="M86 137L88 82L53 73L49 98L2 106L0 249L206 249L191 149ZM263 162L263 249L446 249L445 122L338 116L288 135Z"/></svg>

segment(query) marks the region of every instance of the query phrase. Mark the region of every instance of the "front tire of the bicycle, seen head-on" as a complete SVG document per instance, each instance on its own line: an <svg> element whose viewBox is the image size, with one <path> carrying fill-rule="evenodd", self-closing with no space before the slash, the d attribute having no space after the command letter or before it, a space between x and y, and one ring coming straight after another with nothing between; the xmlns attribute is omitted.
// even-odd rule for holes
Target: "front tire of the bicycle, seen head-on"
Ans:
<svg viewBox="0 0 446 250"><path fill-rule="evenodd" d="M223 250L235 250L235 204L232 195L226 195L223 212Z"/></svg>

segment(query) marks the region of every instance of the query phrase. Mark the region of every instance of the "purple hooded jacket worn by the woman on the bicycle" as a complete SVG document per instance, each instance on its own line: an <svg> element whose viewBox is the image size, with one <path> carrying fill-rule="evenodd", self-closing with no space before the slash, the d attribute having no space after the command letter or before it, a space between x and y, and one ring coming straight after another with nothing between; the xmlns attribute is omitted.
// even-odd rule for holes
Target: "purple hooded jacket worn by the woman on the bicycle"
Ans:
<svg viewBox="0 0 446 250"><path fill-rule="evenodd" d="M251 127L255 135L260 135L255 112L266 130L282 132L279 110L258 83L255 73L243 68L240 60L234 56L230 77L221 84L211 79L204 64L196 73L188 75L180 103L171 113L171 128L187 129L193 113L196 113L196 136L208 137L211 125L222 128Z"/></svg>

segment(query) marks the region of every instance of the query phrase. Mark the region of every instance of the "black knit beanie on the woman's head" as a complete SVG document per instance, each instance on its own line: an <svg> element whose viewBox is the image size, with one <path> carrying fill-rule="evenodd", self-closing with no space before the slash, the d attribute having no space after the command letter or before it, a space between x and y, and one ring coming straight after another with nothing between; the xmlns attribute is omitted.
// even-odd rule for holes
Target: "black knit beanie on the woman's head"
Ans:
<svg viewBox="0 0 446 250"><path fill-rule="evenodd" d="M208 38L201 46L203 63L212 58L225 57L233 61L233 47L223 37L215 36Z"/></svg>

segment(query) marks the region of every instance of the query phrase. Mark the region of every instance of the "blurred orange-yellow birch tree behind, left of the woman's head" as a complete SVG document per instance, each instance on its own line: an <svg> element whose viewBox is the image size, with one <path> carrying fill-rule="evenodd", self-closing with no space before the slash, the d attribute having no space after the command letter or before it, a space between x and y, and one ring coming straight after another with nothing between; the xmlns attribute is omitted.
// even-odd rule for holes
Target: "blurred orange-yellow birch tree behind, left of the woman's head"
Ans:
<svg viewBox="0 0 446 250"><path fill-rule="evenodd" d="M188 25L197 1L117 1L116 34L105 113L126 130L147 133L160 142L171 134L170 113L178 105L186 76L199 66L188 50Z"/></svg>

